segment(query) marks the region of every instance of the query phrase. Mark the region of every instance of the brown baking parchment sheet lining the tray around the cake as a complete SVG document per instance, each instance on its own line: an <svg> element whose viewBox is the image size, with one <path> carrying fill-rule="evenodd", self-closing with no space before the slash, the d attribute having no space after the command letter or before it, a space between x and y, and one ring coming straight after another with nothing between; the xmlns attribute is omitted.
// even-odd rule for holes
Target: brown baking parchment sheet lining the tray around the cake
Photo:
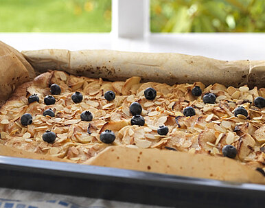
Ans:
<svg viewBox="0 0 265 208"><path fill-rule="evenodd" d="M141 76L143 81L168 84L200 81L206 85L218 82L226 86L236 87L244 84L264 87L265 83L265 61L239 60L230 62L183 54L145 54L109 50L44 49L23 51L22 54L34 67L36 73L43 73L48 69L57 69L73 75L91 78L101 77L108 80L125 80L131 76ZM14 57L14 60L4 60L0 54L1 73L9 73L8 69L14 69L14 66L10 67L9 65L17 65L15 68L21 68L21 73L27 73L28 77L14 81L15 86L30 80L34 73L30 73L30 70L27 69L28 65L19 62L20 59L14 54L9 56L9 58ZM6 67L6 63L8 63L8 67ZM3 77L5 84L16 78L13 71L11 70L7 78ZM11 92L10 89L8 93ZM8 97L8 93L5 93L4 97ZM1 98L3 99L3 97ZM0 146L0 152L6 156L60 161L60 159L54 159L50 156L21 152L21 150L5 146ZM141 156L139 156L140 152ZM119 159L117 159L117 155L119 155ZM87 161L87 164L242 183L264 183L262 174L231 159L185 152L132 149L118 146L107 148Z"/></svg>

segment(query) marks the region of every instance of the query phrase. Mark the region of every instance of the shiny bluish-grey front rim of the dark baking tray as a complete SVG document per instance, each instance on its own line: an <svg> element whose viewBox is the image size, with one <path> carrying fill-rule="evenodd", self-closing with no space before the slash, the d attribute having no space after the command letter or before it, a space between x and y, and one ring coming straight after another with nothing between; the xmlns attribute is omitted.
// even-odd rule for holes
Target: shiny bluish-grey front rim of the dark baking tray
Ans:
<svg viewBox="0 0 265 208"><path fill-rule="evenodd" d="M265 185L254 183L231 183L205 178L189 176L177 176L172 174L159 174L153 172L141 172L137 170L125 170L114 167L102 167L95 165L82 165L57 161L45 161L38 159L25 159L19 157L0 156L0 167L8 170L23 172L45 173L51 176L67 176L77 178L107 178L114 181L131 181L157 187L179 188L179 185L189 185L192 189L205 188L216 189L220 192L230 189L240 192L265 192ZM1 185L0 185L1 186Z"/></svg>

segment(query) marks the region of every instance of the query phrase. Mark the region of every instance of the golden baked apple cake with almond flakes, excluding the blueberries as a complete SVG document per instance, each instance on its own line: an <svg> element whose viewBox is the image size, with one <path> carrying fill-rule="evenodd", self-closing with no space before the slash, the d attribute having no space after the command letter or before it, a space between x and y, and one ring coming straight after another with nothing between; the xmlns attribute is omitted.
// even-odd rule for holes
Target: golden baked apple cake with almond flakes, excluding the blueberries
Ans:
<svg viewBox="0 0 265 208"><path fill-rule="evenodd" d="M87 163L108 146L178 150L222 157L222 148L233 145L238 150L236 161L264 170L265 108L253 105L255 97L265 97L264 88L227 88L217 83L205 87L200 82L170 86L140 81L139 77L129 78L126 82L108 82L62 71L43 73L32 82L19 86L1 106L1 143L75 163ZM60 95L54 95L56 103L47 106L43 100L50 95L49 86L54 83L62 91ZM202 95L192 95L194 86L200 86ZM148 87L157 91L154 100L146 100L143 95ZM71 100L76 91L83 95L78 104ZM113 101L104 99L106 91L115 92ZM206 93L216 95L215 104L203 102ZM27 98L34 94L40 101L28 104ZM129 106L133 102L139 102L143 108L144 126L130 125ZM196 115L184 116L183 109L187 106L192 106ZM238 106L246 109L248 117L234 116ZM48 108L55 112L55 117L43 116ZM91 122L80 119L83 111L92 113ZM32 124L21 124L24 113L32 115ZM157 133L157 128L163 125L169 128L165 136ZM46 130L56 133L54 143L43 141ZM113 130L116 135L113 143L100 141L100 133L104 130Z"/></svg>

